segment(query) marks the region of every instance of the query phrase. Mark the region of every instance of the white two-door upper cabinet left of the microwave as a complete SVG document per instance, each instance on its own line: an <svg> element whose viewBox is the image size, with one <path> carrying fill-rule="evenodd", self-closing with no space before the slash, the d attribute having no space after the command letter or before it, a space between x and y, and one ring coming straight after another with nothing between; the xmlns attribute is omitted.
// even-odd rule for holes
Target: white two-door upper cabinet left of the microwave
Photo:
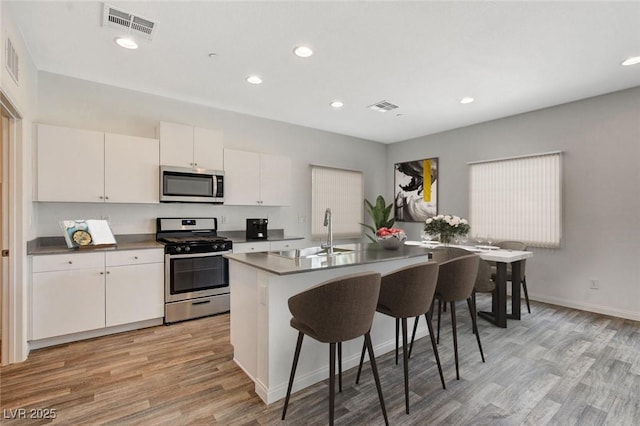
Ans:
<svg viewBox="0 0 640 426"><path fill-rule="evenodd" d="M38 124L37 201L157 203L157 139Z"/></svg>

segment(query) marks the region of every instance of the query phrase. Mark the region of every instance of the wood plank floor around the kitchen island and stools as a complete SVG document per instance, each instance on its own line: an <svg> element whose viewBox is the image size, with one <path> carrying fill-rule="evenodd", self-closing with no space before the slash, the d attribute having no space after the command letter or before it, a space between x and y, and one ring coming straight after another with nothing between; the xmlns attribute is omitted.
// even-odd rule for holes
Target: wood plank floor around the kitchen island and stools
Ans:
<svg viewBox="0 0 640 426"><path fill-rule="evenodd" d="M479 297L486 308L488 299ZM411 414L402 366L378 368L392 425L632 425L640 419L640 323L532 303L532 314L499 329L479 320L482 363L466 305L458 308L461 380L451 324L443 322L443 390L427 339L410 360ZM448 313L447 313L448 314ZM445 317L446 318L446 317ZM390 321L393 321L390 319ZM374 342L375 344L375 342ZM265 406L232 361L229 316L106 336L33 351L0 370L7 425L272 425L328 422L327 381ZM327 347L328 356L328 347ZM290 360L286 361L288 367ZM383 424L368 364L336 399L336 424ZM11 419L17 408L55 409L55 420ZM37 413L37 412L34 412ZM40 413L42 414L42 413Z"/></svg>

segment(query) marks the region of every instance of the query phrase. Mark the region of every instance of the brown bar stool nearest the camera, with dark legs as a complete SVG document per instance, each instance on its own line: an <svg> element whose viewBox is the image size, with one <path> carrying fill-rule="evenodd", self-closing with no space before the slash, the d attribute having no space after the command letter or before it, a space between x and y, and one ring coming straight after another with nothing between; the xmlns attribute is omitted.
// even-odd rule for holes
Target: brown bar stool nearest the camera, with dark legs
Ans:
<svg viewBox="0 0 640 426"><path fill-rule="evenodd" d="M282 420L287 414L291 387L298 366L302 339L305 335L322 343L329 343L329 424L334 421L336 344L364 336L371 359L371 370L378 390L385 424L389 424L382 396L382 387L375 363L369 330L380 293L380 274L365 272L325 281L289 298L293 315L291 327L298 330L298 341L291 366L287 396L282 409ZM341 352L341 351L340 351ZM342 365L340 365L340 372Z"/></svg>

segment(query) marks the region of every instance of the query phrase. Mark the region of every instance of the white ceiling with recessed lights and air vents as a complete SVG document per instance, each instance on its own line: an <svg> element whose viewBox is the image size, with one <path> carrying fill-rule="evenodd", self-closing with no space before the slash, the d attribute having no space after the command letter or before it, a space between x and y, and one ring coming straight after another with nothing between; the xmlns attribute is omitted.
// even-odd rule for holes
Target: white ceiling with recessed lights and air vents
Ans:
<svg viewBox="0 0 640 426"><path fill-rule="evenodd" d="M639 1L108 2L158 23L136 51L102 2L3 3L39 70L385 143L640 85Z"/></svg>

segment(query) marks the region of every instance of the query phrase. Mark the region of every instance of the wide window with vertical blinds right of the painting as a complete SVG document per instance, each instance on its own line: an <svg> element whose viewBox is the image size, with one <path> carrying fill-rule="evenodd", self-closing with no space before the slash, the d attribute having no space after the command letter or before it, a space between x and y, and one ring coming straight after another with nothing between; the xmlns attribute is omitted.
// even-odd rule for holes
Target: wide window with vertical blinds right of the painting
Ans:
<svg viewBox="0 0 640 426"><path fill-rule="evenodd" d="M561 153L469 163L471 235L559 247Z"/></svg>

